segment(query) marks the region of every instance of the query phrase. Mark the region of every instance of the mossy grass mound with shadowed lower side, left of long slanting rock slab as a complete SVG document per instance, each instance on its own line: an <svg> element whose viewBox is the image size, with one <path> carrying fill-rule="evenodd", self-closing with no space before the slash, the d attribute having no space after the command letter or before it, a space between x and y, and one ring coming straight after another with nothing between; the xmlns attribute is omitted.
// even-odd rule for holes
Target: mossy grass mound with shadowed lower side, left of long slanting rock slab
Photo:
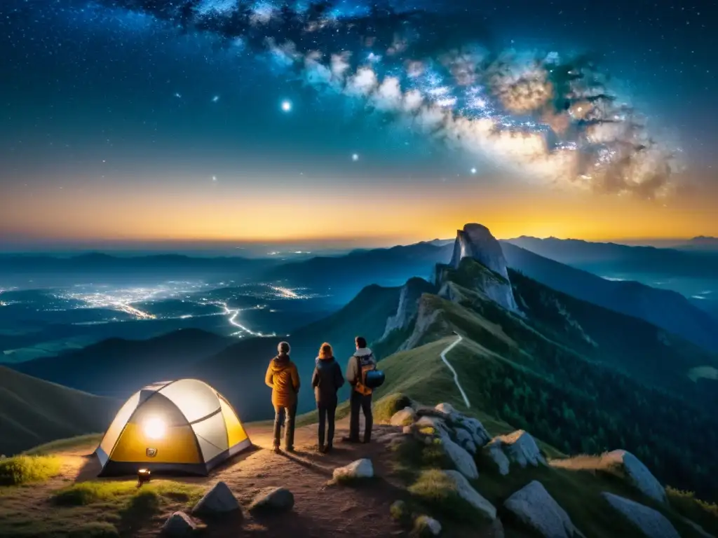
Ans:
<svg viewBox="0 0 718 538"><path fill-rule="evenodd" d="M462 499L454 482L438 469L421 471L416 482L409 486L409 493L439 519L472 524L486 521L484 514Z"/></svg>

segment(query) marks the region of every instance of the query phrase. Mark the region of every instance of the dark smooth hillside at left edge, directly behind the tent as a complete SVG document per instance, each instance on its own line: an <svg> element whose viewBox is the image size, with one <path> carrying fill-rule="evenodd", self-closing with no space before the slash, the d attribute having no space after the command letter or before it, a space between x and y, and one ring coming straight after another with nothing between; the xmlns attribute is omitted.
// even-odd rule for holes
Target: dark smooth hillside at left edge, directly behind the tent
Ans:
<svg viewBox="0 0 718 538"><path fill-rule="evenodd" d="M0 366L0 454L103 432L121 405Z"/></svg>

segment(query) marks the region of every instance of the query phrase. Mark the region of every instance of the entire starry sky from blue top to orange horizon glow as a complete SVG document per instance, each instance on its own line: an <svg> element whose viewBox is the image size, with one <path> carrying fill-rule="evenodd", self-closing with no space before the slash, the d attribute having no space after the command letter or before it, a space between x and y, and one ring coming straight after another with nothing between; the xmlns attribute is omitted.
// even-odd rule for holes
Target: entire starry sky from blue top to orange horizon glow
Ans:
<svg viewBox="0 0 718 538"><path fill-rule="evenodd" d="M710 4L3 0L0 247L718 235Z"/></svg>

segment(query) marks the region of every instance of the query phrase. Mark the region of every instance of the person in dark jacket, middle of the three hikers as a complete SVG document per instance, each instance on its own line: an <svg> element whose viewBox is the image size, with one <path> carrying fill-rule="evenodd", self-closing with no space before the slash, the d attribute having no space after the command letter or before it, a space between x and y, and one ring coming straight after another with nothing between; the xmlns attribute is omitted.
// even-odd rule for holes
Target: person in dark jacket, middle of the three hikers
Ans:
<svg viewBox="0 0 718 538"><path fill-rule="evenodd" d="M317 430L319 450L323 453L332 450L335 412L337 411L337 391L340 390L343 384L342 368L334 359L332 346L325 342L320 347L317 366L314 367L314 374L312 374L314 398L317 400L317 410L319 411L319 429Z"/></svg>

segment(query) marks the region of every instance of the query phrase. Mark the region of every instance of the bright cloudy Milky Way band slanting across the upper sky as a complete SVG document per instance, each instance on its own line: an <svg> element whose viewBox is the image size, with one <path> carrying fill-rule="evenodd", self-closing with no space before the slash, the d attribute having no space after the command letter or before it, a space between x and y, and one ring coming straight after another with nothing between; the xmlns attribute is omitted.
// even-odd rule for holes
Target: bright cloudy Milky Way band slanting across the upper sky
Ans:
<svg viewBox="0 0 718 538"><path fill-rule="evenodd" d="M590 57L497 51L479 25L467 32L460 17L388 4L104 4L246 47L320 93L360 100L526 179L645 198L673 187L679 149L648 132Z"/></svg>

